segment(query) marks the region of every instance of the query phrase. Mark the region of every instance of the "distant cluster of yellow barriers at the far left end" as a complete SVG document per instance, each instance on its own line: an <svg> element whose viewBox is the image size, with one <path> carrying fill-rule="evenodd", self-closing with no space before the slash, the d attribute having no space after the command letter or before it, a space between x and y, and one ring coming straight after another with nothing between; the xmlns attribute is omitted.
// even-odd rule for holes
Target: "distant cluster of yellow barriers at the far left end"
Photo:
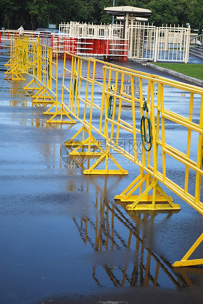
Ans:
<svg viewBox="0 0 203 304"><path fill-rule="evenodd" d="M11 58L5 79L25 80L23 74L32 74L32 80L24 87L36 106L56 104L58 101L58 53L34 41L31 37L11 37ZM30 91L32 93L30 93Z"/></svg>

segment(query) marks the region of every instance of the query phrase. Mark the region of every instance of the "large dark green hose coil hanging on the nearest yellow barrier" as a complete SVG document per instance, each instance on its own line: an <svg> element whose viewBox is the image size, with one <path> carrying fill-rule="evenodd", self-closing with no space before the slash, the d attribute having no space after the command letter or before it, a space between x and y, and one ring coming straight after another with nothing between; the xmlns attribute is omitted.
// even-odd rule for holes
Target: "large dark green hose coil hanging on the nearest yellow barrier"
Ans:
<svg viewBox="0 0 203 304"><path fill-rule="evenodd" d="M149 108L147 106L147 101L144 102L144 105L143 105L143 110L145 111L149 111ZM149 130L149 140L147 139L147 127L146 127L146 124L145 124L145 121L147 121L147 127L148 127L148 130ZM142 128L143 126L143 128ZM141 140L142 140L142 145L144 147L144 149L149 152L151 149L152 149L152 124L151 124L151 120L149 117L146 117L145 115L142 116L141 118L141 123L140 123L140 132L141 132ZM147 149L146 146L145 146L145 143L147 144L150 144L149 148Z"/></svg>

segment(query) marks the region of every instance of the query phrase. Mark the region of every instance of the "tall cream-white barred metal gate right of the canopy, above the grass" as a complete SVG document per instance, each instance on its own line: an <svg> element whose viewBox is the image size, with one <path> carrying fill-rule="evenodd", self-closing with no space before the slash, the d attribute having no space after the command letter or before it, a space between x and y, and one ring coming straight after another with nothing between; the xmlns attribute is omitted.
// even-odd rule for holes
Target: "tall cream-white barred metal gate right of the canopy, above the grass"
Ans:
<svg viewBox="0 0 203 304"><path fill-rule="evenodd" d="M190 28L130 25L128 39L130 59L188 62Z"/></svg>

